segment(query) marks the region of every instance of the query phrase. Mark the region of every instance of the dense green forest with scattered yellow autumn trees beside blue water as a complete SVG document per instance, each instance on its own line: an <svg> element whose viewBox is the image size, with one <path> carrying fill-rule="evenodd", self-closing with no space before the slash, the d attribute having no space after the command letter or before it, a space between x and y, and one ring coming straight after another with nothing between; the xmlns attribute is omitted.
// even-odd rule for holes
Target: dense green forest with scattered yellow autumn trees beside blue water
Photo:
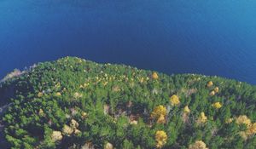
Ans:
<svg viewBox="0 0 256 149"><path fill-rule="evenodd" d="M247 83L75 57L18 74L0 85L14 149L256 148L256 87Z"/></svg>

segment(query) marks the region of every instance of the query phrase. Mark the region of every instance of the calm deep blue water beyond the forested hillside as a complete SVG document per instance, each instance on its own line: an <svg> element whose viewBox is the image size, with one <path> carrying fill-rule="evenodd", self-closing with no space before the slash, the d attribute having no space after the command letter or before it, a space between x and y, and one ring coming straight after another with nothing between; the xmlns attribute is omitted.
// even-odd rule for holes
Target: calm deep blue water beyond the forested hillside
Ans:
<svg viewBox="0 0 256 149"><path fill-rule="evenodd" d="M72 55L256 84L255 0L0 0L0 77Z"/></svg>

